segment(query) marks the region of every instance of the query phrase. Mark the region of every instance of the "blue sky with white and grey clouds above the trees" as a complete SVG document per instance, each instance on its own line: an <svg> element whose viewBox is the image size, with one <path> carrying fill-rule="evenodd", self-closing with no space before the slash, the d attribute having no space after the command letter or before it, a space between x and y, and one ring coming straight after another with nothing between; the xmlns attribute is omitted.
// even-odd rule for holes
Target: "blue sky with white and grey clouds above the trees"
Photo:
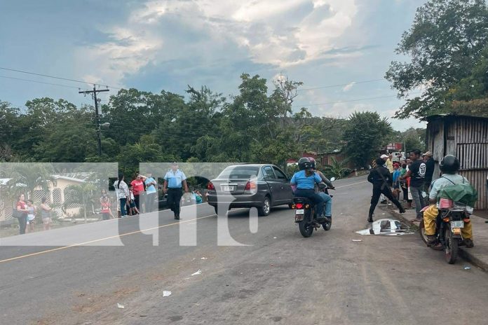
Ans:
<svg viewBox="0 0 488 325"><path fill-rule="evenodd" d="M384 73L402 60L395 46L424 2L5 0L0 67L179 94L187 85L207 85L236 95L243 72L270 87L282 74L304 83L295 109L335 117L372 110L391 118L402 102ZM89 103L77 87L89 85L0 69L0 100L15 106L36 97ZM420 125L391 122L397 130Z"/></svg>

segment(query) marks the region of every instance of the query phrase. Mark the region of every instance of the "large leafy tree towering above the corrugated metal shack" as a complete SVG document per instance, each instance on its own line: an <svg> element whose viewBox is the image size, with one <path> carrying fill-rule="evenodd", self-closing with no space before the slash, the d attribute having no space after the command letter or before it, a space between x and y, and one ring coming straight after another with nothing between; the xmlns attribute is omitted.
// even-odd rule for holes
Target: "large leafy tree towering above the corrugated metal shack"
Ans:
<svg viewBox="0 0 488 325"><path fill-rule="evenodd" d="M392 62L386 79L400 98L419 87L425 91L407 99L395 117L424 118L453 111L452 88L459 88L459 83L473 74L487 43L488 8L484 0L431 0L418 8L412 27L402 35L396 49L412 61Z"/></svg>

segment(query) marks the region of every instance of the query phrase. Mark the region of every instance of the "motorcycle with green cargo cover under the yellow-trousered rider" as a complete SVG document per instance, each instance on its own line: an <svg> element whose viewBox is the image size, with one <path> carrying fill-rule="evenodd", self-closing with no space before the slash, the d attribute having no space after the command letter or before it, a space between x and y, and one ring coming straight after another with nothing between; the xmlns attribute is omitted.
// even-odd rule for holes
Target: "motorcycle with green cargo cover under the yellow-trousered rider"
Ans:
<svg viewBox="0 0 488 325"><path fill-rule="evenodd" d="M422 212L425 209L427 207L424 207ZM470 212L473 212L473 209L466 205L456 205L452 200L445 198L440 199L438 209L439 214L435 219L435 242L428 242L423 220L419 225L419 234L428 247L443 250L447 263L454 264L458 256L459 244L463 240L461 229L464 228L465 223L470 222Z"/></svg>

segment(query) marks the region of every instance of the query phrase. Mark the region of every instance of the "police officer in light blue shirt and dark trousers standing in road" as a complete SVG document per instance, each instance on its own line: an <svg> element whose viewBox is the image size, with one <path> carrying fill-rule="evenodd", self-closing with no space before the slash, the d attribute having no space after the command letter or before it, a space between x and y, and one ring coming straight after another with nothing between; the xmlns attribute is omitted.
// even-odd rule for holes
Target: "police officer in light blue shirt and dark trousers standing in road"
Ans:
<svg viewBox="0 0 488 325"><path fill-rule="evenodd" d="M175 214L175 219L179 220L179 202L182 200L182 186L184 191L189 193L187 177L184 172L178 169L177 163L171 164L171 169L164 176L164 193L168 193L168 206Z"/></svg>

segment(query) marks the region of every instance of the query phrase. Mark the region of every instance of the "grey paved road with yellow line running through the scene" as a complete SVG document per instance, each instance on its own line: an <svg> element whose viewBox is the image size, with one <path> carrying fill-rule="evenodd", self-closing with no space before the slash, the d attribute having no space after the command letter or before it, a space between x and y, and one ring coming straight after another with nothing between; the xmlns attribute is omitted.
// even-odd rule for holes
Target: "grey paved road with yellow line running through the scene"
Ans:
<svg viewBox="0 0 488 325"><path fill-rule="evenodd" d="M3 239L0 324L486 324L485 273L448 265L417 235L355 234L370 186L336 187L332 229L310 238L287 207L255 233L241 209L229 233L246 246L218 246L217 216L201 205L197 220L182 213L184 244L196 228L196 246L179 245L168 212Z"/></svg>

